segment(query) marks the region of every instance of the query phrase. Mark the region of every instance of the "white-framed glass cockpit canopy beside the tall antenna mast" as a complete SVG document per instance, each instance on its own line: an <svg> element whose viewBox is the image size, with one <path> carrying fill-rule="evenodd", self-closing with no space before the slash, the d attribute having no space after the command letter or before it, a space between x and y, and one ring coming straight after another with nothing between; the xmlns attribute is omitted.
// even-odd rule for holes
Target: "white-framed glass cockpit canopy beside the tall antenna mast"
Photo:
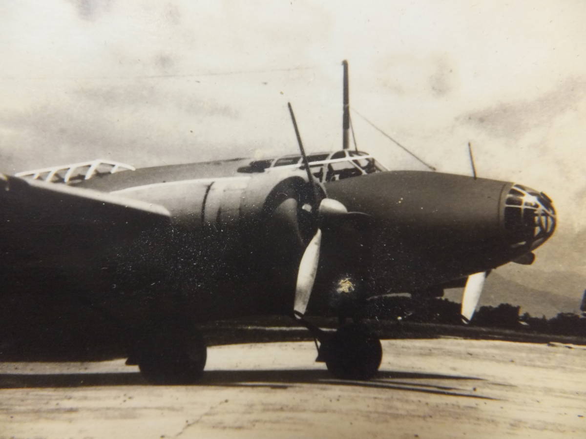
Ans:
<svg viewBox="0 0 586 439"><path fill-rule="evenodd" d="M314 153L307 156L307 161L309 168L320 183L386 170L369 153L347 149ZM275 170L303 168L304 164L301 155L289 155L277 157L276 159L254 160L248 166L239 168L239 172L272 172Z"/></svg>

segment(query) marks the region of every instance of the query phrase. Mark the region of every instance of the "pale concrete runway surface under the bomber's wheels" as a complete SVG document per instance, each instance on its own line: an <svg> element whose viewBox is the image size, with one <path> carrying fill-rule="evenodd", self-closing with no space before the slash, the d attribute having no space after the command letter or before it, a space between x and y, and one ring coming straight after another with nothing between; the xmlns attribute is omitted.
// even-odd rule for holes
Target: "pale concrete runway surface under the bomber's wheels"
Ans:
<svg viewBox="0 0 586 439"><path fill-rule="evenodd" d="M0 363L0 438L586 437L586 350L383 341L376 379L336 380L312 342L209 348L195 386L123 360Z"/></svg>

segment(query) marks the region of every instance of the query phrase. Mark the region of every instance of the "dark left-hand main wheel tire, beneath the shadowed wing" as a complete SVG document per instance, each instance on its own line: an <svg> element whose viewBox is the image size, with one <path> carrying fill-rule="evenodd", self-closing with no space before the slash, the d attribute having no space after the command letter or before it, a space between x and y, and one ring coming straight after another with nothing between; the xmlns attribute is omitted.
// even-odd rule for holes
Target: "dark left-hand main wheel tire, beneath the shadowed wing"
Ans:
<svg viewBox="0 0 586 439"><path fill-rule="evenodd" d="M192 384L203 375L207 347L196 330L179 325L150 332L138 353L138 368L152 384Z"/></svg>

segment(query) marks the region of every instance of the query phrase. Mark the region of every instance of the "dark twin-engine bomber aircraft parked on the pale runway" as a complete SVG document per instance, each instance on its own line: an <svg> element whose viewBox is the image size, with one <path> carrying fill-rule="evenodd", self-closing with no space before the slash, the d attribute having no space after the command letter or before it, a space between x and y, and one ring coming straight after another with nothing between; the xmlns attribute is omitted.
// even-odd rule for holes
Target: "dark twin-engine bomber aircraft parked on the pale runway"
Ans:
<svg viewBox="0 0 586 439"><path fill-rule="evenodd" d="M486 273L533 262L553 234L544 193L387 171L347 148L306 156L295 132L301 153L273 160L0 174L4 331L118 334L148 380L192 382L206 362L198 324L285 314L333 375L367 379L381 362L360 322L367 299L466 284L469 320ZM340 317L336 332L311 324L323 313Z"/></svg>

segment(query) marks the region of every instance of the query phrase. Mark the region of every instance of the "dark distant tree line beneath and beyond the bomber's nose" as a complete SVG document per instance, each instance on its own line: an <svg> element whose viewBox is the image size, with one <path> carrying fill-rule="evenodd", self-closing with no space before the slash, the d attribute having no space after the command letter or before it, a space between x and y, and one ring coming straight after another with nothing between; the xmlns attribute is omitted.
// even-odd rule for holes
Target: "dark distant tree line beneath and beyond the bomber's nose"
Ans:
<svg viewBox="0 0 586 439"><path fill-rule="evenodd" d="M574 313L559 313L547 319L519 315L520 306L501 303L482 306L472 317L471 325L523 329L544 334L586 337L586 318ZM460 304L448 299L406 296L383 296L369 301L366 317L418 323L461 324Z"/></svg>

